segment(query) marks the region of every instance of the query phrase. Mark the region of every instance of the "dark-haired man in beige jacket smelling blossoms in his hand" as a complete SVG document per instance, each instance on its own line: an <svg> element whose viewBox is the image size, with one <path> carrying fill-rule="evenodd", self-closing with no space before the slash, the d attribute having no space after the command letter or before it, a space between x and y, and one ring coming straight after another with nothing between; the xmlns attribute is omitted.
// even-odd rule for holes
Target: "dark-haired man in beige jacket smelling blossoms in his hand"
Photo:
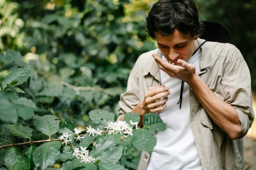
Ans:
<svg viewBox="0 0 256 170"><path fill-rule="evenodd" d="M135 63L118 120L139 113L142 126L151 112L167 129L156 133L157 145L150 159L142 153L138 169L245 169L242 137L254 112L250 73L240 51L198 38L203 22L192 0L159 0L146 21L159 49Z"/></svg>

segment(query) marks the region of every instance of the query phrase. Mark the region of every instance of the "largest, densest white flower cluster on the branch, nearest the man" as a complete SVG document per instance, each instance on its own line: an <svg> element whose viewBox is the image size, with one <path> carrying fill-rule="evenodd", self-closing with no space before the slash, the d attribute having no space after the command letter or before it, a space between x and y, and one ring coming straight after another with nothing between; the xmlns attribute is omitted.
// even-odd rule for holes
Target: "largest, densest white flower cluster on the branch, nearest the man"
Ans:
<svg viewBox="0 0 256 170"><path fill-rule="evenodd" d="M108 126L106 126L105 128L107 128L107 130L109 130L108 134L117 134L117 133L120 133L120 134L124 134L125 137L127 137L128 135L131 135L132 136L132 128L133 128L133 125L135 125L136 129L139 129L138 128L138 122L132 122L130 120L130 123L131 123L131 127L128 123L126 123L126 121L118 121L118 122L107 122L108 123ZM126 134L126 135L125 135Z"/></svg>

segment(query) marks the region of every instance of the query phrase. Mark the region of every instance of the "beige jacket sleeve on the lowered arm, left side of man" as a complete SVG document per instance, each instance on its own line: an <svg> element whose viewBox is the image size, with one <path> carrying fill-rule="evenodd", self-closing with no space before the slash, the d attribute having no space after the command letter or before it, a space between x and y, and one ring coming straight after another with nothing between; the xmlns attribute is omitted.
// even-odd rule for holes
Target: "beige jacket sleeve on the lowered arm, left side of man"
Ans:
<svg viewBox="0 0 256 170"><path fill-rule="evenodd" d="M139 71L139 59L136 61L134 67L128 78L127 90L121 94L118 109L118 118L132 111L139 104L139 86L138 86L138 71Z"/></svg>

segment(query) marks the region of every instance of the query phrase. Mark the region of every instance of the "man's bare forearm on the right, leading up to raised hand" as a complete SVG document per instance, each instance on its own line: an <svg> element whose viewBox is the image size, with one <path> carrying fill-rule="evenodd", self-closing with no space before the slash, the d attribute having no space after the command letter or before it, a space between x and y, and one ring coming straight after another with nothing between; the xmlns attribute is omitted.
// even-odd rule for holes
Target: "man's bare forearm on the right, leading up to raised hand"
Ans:
<svg viewBox="0 0 256 170"><path fill-rule="evenodd" d="M187 83L216 125L231 139L239 138L242 135L242 129L235 108L216 97L198 75L193 81Z"/></svg>

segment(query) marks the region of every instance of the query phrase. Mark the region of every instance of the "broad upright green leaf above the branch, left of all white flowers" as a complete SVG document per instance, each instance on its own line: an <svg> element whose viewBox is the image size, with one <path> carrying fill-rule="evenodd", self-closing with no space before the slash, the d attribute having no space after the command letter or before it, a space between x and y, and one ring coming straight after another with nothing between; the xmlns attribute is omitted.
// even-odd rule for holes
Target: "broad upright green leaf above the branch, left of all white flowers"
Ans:
<svg viewBox="0 0 256 170"><path fill-rule="evenodd" d="M60 120L58 119L54 115L35 116L33 118L36 128L43 134L48 135L49 138L59 131Z"/></svg>

